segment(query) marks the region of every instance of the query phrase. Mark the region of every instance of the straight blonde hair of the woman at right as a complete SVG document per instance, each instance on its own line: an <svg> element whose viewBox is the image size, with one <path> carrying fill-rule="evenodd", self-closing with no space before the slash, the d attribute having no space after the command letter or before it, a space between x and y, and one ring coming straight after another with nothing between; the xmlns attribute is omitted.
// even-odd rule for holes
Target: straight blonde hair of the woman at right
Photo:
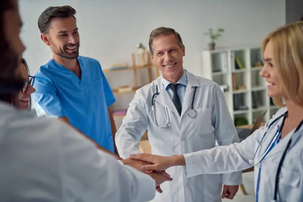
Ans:
<svg viewBox="0 0 303 202"><path fill-rule="evenodd" d="M263 40L262 52L268 42L273 44L276 69L288 99L303 107L303 22L279 27ZM278 106L285 106L282 98L273 98Z"/></svg>

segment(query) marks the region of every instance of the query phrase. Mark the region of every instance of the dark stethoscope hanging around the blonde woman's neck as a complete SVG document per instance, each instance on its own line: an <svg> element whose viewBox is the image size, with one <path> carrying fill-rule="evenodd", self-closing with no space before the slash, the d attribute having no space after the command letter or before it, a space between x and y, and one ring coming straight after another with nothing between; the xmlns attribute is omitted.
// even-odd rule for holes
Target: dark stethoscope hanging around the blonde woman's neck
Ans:
<svg viewBox="0 0 303 202"><path fill-rule="evenodd" d="M263 137L262 137L260 143L258 144L258 147L257 147L256 151L254 152L253 160L254 160L254 158L255 158L256 153L258 152L258 149L259 149L259 147L260 147L260 145L261 145L261 143L262 143L264 137L265 137L266 134L268 133L269 128L270 128L275 122L277 122L278 120L280 120L280 118L282 118L282 117L283 117L283 121L282 121L281 126L279 127L279 130L277 131L275 137L273 138L273 140L271 141L271 143L269 144L269 146L267 147L267 149L265 150L265 152L263 153L263 155L261 156L261 158L257 161L257 163L254 164L254 162L252 162L252 164L253 164L254 166L257 165L258 163L260 163L260 162L263 160L263 158L265 157L265 155L266 155L267 152L269 151L270 147L272 147L272 144L274 144L274 142L277 140L277 138L279 138L279 135L278 135L278 134L281 134L281 132L282 132L283 125L284 125L284 122L285 122L285 119L288 117L288 111L285 112L284 114L280 115L279 117L277 117L275 120L273 120L273 121L266 127L265 132L264 132L264 135L263 135ZM299 123L299 125L298 125L297 128L295 129L294 134L295 134L296 132L299 131L299 129L301 128L302 124L303 124L303 120ZM294 134L293 134L293 135L294 135ZM273 201L272 201L272 202L276 202L276 201L277 201L278 188L279 188L279 180L280 180L279 175L280 175L280 173L281 173L281 168L282 168L282 165L283 165L283 161L284 161L284 159L285 159L285 156L286 156L286 153L287 153L288 149L290 149L291 143L292 143L292 138L289 139L289 141L288 141L288 143L287 143L287 146L286 146L285 150L284 150L283 153L282 153L282 156L281 156L281 159L280 159L280 162L279 162L279 165L278 165L278 169L277 169L277 173L276 173L276 178L275 178L274 197L273 197Z"/></svg>

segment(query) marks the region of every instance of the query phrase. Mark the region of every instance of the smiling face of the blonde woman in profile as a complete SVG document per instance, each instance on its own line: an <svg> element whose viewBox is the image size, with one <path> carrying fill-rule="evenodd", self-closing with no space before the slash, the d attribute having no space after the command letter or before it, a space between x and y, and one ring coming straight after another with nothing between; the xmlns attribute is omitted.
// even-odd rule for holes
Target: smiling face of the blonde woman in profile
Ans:
<svg viewBox="0 0 303 202"><path fill-rule="evenodd" d="M265 65L260 71L260 76L264 77L267 82L267 95L269 97L286 97L282 79L275 66L275 58L273 57L274 47L272 41L269 41L264 50Z"/></svg>

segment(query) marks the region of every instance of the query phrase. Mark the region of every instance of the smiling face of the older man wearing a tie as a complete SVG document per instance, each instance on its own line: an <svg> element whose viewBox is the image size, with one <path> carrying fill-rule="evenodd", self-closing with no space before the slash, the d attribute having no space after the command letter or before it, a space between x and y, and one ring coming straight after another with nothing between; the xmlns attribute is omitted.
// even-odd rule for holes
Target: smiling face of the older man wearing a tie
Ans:
<svg viewBox="0 0 303 202"><path fill-rule="evenodd" d="M183 56L185 47L181 49L174 34L161 35L152 41L152 60L161 71L164 79L175 83L183 75Z"/></svg>

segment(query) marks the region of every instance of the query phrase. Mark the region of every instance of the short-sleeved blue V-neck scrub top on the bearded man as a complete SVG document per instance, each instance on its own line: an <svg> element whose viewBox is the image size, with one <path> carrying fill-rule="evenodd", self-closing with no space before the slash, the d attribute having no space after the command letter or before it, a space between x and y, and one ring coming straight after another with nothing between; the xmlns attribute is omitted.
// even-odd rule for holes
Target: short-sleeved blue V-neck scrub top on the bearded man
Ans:
<svg viewBox="0 0 303 202"><path fill-rule="evenodd" d="M81 79L54 59L39 68L33 84L36 92L32 94L37 115L66 116L71 125L114 152L107 109L115 102L114 95L96 59L77 59Z"/></svg>

